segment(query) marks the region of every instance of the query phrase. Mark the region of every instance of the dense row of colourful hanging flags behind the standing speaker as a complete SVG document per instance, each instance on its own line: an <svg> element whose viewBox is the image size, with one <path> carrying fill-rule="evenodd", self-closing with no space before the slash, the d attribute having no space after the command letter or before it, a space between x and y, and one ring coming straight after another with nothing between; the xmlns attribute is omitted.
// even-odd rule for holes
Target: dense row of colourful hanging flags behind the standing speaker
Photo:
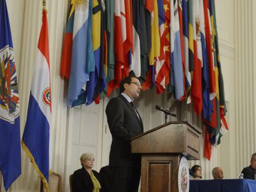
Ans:
<svg viewBox="0 0 256 192"><path fill-rule="evenodd" d="M215 1L71 1L61 59L67 106L99 103L131 74L143 90L193 104L210 159L228 130Z"/></svg>

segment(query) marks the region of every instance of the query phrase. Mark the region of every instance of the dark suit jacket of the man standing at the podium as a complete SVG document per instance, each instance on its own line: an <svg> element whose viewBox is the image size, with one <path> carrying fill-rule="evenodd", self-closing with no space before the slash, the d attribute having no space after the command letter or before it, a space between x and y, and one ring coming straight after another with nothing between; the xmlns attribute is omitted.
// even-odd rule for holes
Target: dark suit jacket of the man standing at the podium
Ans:
<svg viewBox="0 0 256 192"><path fill-rule="evenodd" d="M109 166L132 167L139 155L131 153L130 138L143 133L142 120L121 94L108 102L106 115L112 135Z"/></svg>

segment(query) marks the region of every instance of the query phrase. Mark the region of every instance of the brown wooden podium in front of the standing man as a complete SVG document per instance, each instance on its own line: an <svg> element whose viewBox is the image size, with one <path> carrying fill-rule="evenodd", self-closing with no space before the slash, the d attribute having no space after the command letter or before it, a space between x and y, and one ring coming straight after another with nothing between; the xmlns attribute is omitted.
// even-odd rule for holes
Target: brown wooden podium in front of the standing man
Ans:
<svg viewBox="0 0 256 192"><path fill-rule="evenodd" d="M142 154L140 191L177 192L179 161L200 159L201 135L188 122L169 122L132 138L132 153Z"/></svg>

